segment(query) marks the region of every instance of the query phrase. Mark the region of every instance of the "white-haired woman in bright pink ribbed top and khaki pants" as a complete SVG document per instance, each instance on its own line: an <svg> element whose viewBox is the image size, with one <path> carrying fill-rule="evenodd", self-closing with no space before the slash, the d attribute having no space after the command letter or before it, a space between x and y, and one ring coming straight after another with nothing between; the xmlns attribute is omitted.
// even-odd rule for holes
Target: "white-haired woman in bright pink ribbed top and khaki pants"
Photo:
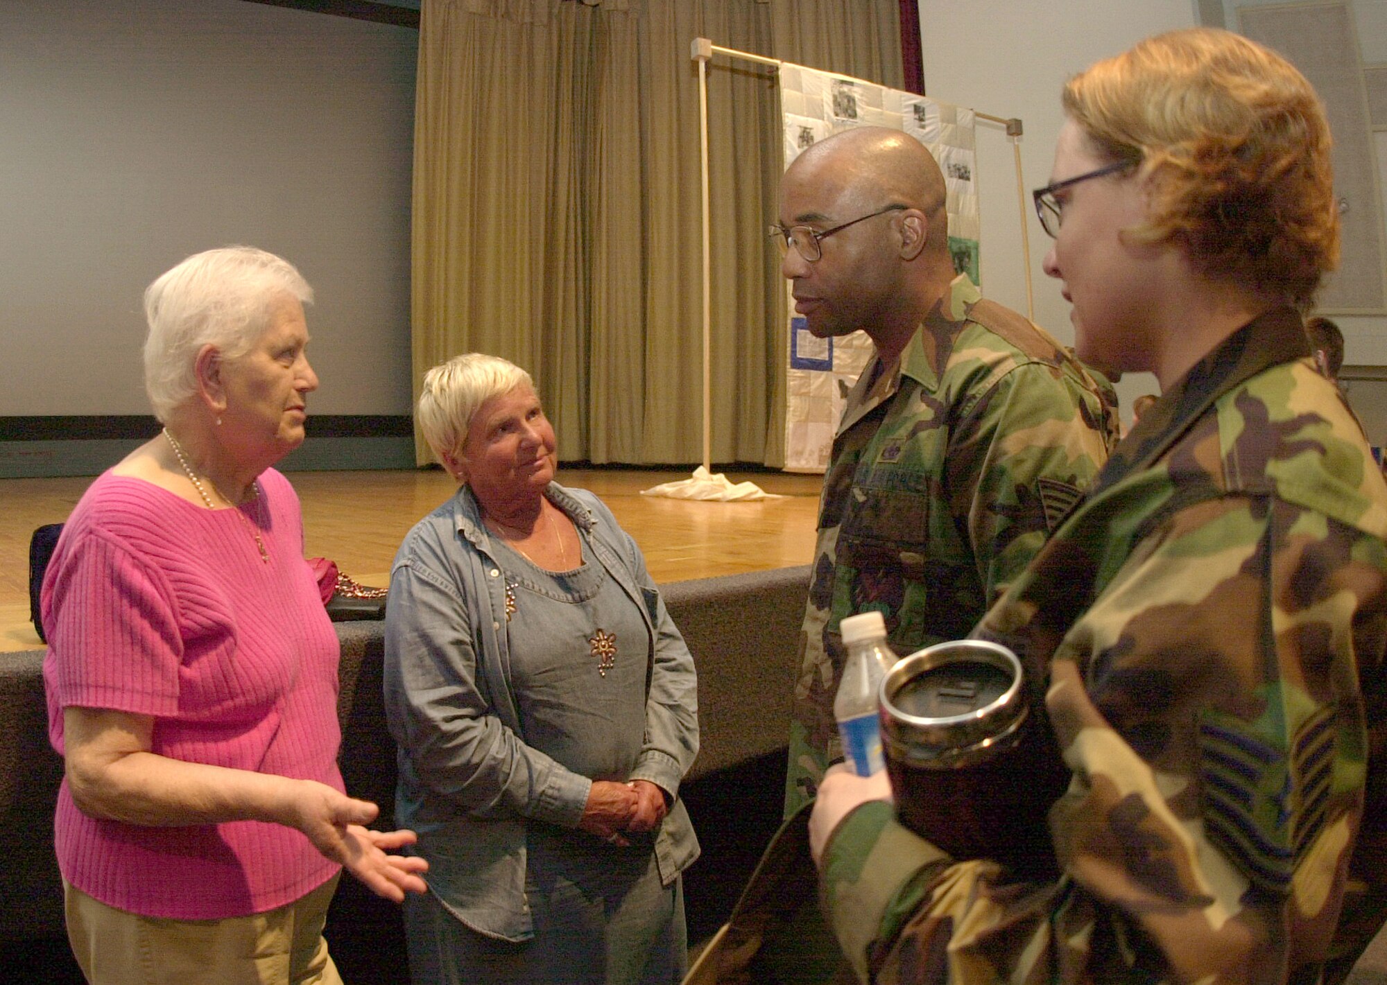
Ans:
<svg viewBox="0 0 1387 985"><path fill-rule="evenodd" d="M340 982L322 928L341 867L423 892L409 831L337 769L338 644L270 466L304 440L304 304L290 264L209 250L144 296L164 430L101 474L43 585L54 828L87 981Z"/></svg>

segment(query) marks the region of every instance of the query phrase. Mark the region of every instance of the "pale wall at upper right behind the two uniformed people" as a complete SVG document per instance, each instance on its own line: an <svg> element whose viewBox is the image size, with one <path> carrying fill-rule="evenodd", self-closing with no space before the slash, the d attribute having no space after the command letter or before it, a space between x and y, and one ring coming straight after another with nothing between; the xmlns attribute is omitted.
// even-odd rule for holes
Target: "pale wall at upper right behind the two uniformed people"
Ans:
<svg viewBox="0 0 1387 985"><path fill-rule="evenodd" d="M1036 320L1065 343L1072 343L1069 305L1058 286L1044 276L1040 262L1049 250L1031 208L1029 191L1049 180L1054 142L1064 122L1060 87L1064 80L1097 61L1118 54L1147 35L1196 24L1239 26L1239 7L1284 0L920 0L925 89L950 103L999 117L1021 117L1021 142L1031 240L1029 269L1035 287ZM1313 7L1315 4L1309 4ZM1338 4L1329 4L1330 7ZM1345 65L1358 62L1369 71L1387 71L1387 0L1348 0L1356 24L1359 50L1345 51ZM1379 67L1379 68L1373 68ZM982 282L989 297L1026 309L1025 269L1017 205L1017 178L1011 146L997 128L978 125L978 171L982 187ZM1387 186L1387 129L1373 121L1377 183ZM1366 204L1365 204L1366 209ZM1383 218L1379 215L1379 222ZM1387 230L1384 230L1387 236ZM1344 329L1347 362L1387 365L1387 316L1334 315ZM1366 373L1377 376L1377 373ZM1130 400L1155 393L1148 373L1128 376L1118 387L1123 416ZM1355 408L1369 426L1375 444L1387 444L1387 388L1359 384L1352 390ZM1359 406L1362 404L1362 406ZM1372 404L1372 406L1369 405ZM1379 406L1381 405L1381 413Z"/></svg>

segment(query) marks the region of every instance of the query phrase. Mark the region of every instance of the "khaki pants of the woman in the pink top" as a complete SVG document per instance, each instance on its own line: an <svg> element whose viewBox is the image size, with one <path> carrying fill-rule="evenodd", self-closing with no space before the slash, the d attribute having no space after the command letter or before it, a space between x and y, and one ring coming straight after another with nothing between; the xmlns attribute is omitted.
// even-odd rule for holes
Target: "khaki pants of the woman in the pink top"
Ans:
<svg viewBox="0 0 1387 985"><path fill-rule="evenodd" d="M68 941L90 985L343 985L323 924L337 877L268 913L141 917L62 882Z"/></svg>

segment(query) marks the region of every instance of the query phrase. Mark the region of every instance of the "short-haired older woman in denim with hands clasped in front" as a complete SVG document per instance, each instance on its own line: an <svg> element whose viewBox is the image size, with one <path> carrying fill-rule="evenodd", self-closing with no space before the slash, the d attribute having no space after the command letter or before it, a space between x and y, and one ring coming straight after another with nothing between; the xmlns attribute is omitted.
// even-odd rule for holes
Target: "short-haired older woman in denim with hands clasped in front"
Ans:
<svg viewBox="0 0 1387 985"><path fill-rule="evenodd" d="M677 982L688 648L635 541L553 481L528 373L456 357L417 422L460 488L405 538L386 613L397 810L430 867L405 906L413 982Z"/></svg>

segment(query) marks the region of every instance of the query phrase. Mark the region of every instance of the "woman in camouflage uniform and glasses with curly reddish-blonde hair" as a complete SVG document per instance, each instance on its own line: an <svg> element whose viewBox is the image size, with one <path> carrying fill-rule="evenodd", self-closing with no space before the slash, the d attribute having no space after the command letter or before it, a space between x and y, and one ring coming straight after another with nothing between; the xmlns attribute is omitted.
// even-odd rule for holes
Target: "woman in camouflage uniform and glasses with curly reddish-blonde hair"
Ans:
<svg viewBox="0 0 1387 985"><path fill-rule="evenodd" d="M1209 29L1064 107L1046 272L1079 357L1162 395L975 630L1021 655L1072 771L1061 875L951 859L882 776L834 774L829 914L885 982L1337 981L1387 895L1387 486L1301 325L1338 254L1323 107Z"/></svg>

